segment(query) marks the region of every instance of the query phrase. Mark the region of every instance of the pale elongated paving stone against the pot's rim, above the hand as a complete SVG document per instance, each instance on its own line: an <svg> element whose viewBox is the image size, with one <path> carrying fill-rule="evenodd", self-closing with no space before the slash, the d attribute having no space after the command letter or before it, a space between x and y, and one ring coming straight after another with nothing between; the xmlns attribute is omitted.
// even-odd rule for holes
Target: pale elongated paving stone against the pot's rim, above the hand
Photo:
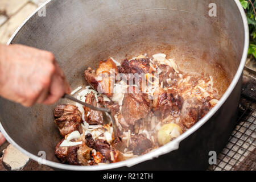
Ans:
<svg viewBox="0 0 256 182"><path fill-rule="evenodd" d="M2 1L2 0L1 0ZM0 27L0 44L6 44L15 30L36 10L36 5L28 3Z"/></svg>

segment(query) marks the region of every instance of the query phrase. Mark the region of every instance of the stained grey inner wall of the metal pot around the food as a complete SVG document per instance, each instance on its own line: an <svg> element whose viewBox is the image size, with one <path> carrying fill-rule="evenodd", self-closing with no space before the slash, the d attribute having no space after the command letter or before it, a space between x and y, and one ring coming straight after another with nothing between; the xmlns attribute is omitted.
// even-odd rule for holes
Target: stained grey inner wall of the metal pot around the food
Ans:
<svg viewBox="0 0 256 182"><path fill-rule="evenodd" d="M208 15L211 2L217 5L216 17ZM84 69L96 68L100 60L162 52L183 71L213 76L222 95L240 64L244 34L235 1L63 0L50 1L45 17L35 13L11 43L53 52L73 89L85 84ZM31 154L45 151L47 160L59 162L55 105L0 102L1 124L10 138Z"/></svg>

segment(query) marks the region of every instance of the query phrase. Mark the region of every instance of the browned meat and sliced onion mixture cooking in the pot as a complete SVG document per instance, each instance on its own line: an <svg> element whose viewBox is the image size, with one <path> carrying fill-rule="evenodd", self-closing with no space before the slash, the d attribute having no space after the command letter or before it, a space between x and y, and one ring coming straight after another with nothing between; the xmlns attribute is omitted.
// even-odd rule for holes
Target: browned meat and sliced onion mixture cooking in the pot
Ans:
<svg viewBox="0 0 256 182"><path fill-rule="evenodd" d="M218 102L212 76L179 69L163 53L139 55L118 63L110 58L88 68L89 86L73 94L88 104L107 106L118 126L104 125L104 115L80 104L57 105L55 124L63 139L55 154L63 163L100 165L146 154L179 137Z"/></svg>

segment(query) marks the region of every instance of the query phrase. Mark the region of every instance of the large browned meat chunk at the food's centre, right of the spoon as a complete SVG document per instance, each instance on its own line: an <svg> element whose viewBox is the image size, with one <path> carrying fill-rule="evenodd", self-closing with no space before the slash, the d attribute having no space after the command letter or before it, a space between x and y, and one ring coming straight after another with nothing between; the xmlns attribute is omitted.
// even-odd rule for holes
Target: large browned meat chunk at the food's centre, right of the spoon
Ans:
<svg viewBox="0 0 256 182"><path fill-rule="evenodd" d="M134 125L141 118L145 118L152 108L152 102L147 94L126 93L123 98L122 115L126 123Z"/></svg>

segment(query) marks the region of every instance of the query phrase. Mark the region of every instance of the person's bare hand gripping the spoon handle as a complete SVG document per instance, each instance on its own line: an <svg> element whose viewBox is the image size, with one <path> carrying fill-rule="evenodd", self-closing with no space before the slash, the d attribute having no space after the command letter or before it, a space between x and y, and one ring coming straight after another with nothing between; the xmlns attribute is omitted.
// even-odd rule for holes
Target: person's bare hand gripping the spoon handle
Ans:
<svg viewBox="0 0 256 182"><path fill-rule="evenodd" d="M51 52L0 45L0 95L23 106L53 104L71 89Z"/></svg>

